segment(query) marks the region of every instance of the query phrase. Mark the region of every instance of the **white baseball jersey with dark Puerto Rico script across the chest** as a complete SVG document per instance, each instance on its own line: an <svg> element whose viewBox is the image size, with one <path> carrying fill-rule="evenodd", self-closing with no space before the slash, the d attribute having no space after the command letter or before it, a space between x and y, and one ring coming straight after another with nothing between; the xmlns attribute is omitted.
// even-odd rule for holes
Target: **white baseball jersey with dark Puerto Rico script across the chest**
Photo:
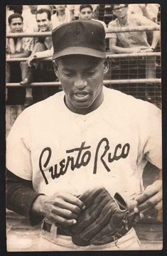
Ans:
<svg viewBox="0 0 167 256"><path fill-rule="evenodd" d="M6 167L47 195L80 195L93 186L140 192L146 161L161 168L161 111L104 87L97 110L75 114L64 96L59 92L18 116L7 138Z"/></svg>

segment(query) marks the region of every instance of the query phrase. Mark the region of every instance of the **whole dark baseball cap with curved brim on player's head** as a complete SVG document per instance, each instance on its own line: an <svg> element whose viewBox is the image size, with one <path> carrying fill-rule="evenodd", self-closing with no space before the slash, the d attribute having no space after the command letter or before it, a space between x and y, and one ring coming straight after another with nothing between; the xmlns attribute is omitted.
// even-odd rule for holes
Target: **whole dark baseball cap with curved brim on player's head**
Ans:
<svg viewBox="0 0 167 256"><path fill-rule="evenodd" d="M52 31L53 60L65 55L106 58L105 31L99 21L71 21Z"/></svg>

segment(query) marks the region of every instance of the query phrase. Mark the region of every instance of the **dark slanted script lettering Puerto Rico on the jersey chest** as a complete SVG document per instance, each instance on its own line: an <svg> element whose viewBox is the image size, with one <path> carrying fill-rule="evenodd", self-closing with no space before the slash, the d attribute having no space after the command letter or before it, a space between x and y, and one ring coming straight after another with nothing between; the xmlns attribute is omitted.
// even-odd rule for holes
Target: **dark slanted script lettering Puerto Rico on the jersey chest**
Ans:
<svg viewBox="0 0 167 256"><path fill-rule="evenodd" d="M59 164L55 164L51 166L48 171L50 172L51 178L59 178L61 175L64 175L68 169L74 171L75 169L80 169L82 166L87 166L91 159L91 151L89 150L91 146L85 146L85 142L82 142L81 146L75 149L66 150L66 154L71 154L73 152L77 152L77 156L68 155L66 159L62 159ZM100 149L100 150L99 150ZM122 146L122 144L117 144L114 148L113 153L108 152L110 149L109 140L107 138L102 138L97 144L97 149L95 151L95 160L94 160L94 168L93 174L97 173L97 164L99 161L102 162L104 168L107 171L111 171L109 169L108 163L112 163L112 161L118 161L119 159L125 159L130 150L129 143L126 143ZM43 155L47 154L47 158L45 163L43 163ZM52 150L50 147L45 147L41 152L39 158L39 168L41 170L41 174L45 180L45 183L48 184L48 179L45 176L44 170L47 169L50 158L52 156ZM107 156L107 162L104 160L104 156ZM43 163L43 164L42 164Z"/></svg>

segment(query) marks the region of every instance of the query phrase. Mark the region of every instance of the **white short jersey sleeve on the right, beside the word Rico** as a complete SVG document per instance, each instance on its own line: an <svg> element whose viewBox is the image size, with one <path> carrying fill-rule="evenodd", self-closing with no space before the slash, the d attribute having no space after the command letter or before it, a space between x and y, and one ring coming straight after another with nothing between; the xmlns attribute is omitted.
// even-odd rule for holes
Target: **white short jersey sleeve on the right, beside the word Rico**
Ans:
<svg viewBox="0 0 167 256"><path fill-rule="evenodd" d="M144 146L144 156L151 164L162 168L162 123L161 110L154 105L149 105L146 117L145 131L147 140Z"/></svg>

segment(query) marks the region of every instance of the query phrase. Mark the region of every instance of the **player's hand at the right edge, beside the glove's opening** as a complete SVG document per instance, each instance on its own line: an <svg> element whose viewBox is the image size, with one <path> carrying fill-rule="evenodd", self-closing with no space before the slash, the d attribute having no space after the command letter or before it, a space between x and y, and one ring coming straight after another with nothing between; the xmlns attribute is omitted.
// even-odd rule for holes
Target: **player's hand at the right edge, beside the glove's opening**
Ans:
<svg viewBox="0 0 167 256"><path fill-rule="evenodd" d="M158 213L158 219L161 220L162 213L162 181L154 181L143 193L136 197L139 212L155 208Z"/></svg>

